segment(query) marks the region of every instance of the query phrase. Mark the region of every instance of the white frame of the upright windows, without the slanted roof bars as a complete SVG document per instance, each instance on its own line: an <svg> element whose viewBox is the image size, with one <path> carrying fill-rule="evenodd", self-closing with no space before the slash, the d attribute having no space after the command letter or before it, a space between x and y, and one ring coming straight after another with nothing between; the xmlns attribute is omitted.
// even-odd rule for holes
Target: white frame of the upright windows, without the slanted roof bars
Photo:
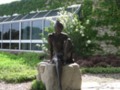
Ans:
<svg viewBox="0 0 120 90"><path fill-rule="evenodd" d="M47 17L47 19L48 18L57 18L57 17L60 17L60 16L52 16L52 17ZM42 51L36 51L36 50L31 50L31 46L30 46L30 50L22 50L21 49L21 43L30 43L30 45L32 44L32 43L40 43L40 44L42 44L43 43L43 41L42 40L32 40L31 38L30 38L30 40L21 40L21 23L22 22L25 22L25 21L30 21L31 22L31 24L30 24L30 27L32 26L32 22L33 21L36 21L36 20L42 20L42 33L44 33L44 28L45 28L45 26L44 26L44 21L46 20L46 17L43 17L43 18L33 18L33 19L27 19L27 20L18 20L18 21L8 21L8 22L2 22L1 23L1 26L2 26L2 28L3 28L3 24L10 24L10 26L11 26L11 24L12 23L19 23L19 40L3 40L2 38L2 42L1 43L19 43L19 49L17 49L17 50L14 50L14 49L10 49L10 46L9 46L9 49L3 49L3 47L2 47L2 45L1 45L1 49L0 50L2 50L2 51L18 51L18 52L42 52ZM30 28L31 29L31 28ZM31 30L30 30L30 33L32 33L31 32Z"/></svg>

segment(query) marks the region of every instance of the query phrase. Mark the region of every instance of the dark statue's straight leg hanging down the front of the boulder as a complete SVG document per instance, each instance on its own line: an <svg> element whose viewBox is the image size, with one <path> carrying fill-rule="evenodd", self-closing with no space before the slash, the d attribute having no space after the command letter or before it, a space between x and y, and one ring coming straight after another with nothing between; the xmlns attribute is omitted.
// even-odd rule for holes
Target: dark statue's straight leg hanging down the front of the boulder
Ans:
<svg viewBox="0 0 120 90"><path fill-rule="evenodd" d="M56 66L56 72L57 72L57 79L58 79L58 90L62 90L62 85L61 85L61 75L62 75L62 62L60 59L57 59L55 61L55 66Z"/></svg>

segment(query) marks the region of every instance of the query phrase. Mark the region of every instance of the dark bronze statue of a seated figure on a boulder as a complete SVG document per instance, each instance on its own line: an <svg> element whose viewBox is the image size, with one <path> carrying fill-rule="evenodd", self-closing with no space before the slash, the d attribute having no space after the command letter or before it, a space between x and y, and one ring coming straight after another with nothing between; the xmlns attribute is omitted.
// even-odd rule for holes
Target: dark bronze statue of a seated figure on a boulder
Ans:
<svg viewBox="0 0 120 90"><path fill-rule="evenodd" d="M62 90L61 86L61 74L62 74L62 66L66 64L73 63L72 58L72 48L73 45L71 43L68 35L63 33L63 25L56 21L54 26L55 32L49 34L48 43L50 50L50 60L55 64L57 78L58 78L58 90Z"/></svg>

